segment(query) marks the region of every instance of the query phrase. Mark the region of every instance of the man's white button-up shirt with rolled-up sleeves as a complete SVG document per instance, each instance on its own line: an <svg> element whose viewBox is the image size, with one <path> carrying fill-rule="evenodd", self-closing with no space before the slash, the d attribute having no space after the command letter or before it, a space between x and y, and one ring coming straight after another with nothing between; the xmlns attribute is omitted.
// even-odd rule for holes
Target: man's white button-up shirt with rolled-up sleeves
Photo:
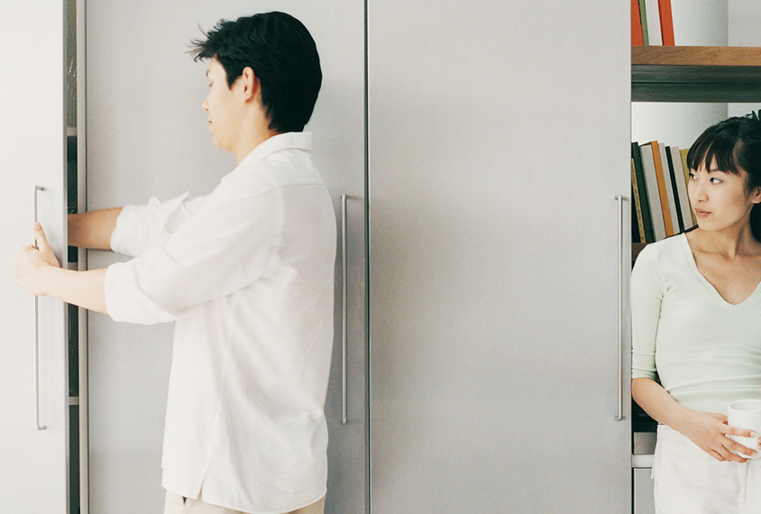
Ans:
<svg viewBox="0 0 761 514"><path fill-rule="evenodd" d="M176 320L169 491L243 512L325 494L335 213L311 134L262 142L214 191L126 206L105 272L116 321Z"/></svg>

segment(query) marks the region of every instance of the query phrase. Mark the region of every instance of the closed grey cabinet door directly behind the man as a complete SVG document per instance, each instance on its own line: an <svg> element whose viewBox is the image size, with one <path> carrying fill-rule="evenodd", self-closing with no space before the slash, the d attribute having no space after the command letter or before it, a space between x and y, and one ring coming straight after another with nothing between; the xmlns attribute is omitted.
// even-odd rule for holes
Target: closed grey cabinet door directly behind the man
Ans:
<svg viewBox="0 0 761 514"><path fill-rule="evenodd" d="M271 10L305 23L320 52L323 86L307 130L314 133L314 161L335 199L339 226L340 197L347 195L346 370L351 376L344 424L339 254L335 355L325 406L326 511L354 514L364 511L366 483L363 3L88 0L87 207L143 203L185 191L206 194L234 168L232 155L215 148L208 133L201 109L207 63L193 62L188 42L221 18ZM118 258L89 252L88 265L103 267ZM91 511L158 512L172 326L114 324L91 315L88 330ZM140 494L132 496L134 491ZM124 500L127 495L131 500Z"/></svg>

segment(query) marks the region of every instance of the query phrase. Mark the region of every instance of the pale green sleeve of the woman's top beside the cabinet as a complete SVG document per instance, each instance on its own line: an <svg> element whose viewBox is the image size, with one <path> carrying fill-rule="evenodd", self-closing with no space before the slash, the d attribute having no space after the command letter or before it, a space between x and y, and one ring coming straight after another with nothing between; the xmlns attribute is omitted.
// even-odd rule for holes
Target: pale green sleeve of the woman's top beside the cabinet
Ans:
<svg viewBox="0 0 761 514"><path fill-rule="evenodd" d="M658 253L646 247L631 272L631 376L656 380L656 336L664 292Z"/></svg>

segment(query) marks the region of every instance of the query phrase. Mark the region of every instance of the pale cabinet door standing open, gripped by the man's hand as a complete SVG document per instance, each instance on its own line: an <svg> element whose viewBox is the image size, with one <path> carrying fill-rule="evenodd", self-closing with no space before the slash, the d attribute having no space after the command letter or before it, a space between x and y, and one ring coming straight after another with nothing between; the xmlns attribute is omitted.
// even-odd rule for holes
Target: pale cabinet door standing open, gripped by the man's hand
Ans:
<svg viewBox="0 0 761 514"><path fill-rule="evenodd" d="M69 382L64 306L39 298L35 317L33 297L16 285L11 268L19 246L32 243L35 186L44 188L37 194L38 219L59 262L64 258L64 3L4 2L0 18L5 21L0 45L7 50L0 81L0 499L6 512L65 514Z"/></svg>

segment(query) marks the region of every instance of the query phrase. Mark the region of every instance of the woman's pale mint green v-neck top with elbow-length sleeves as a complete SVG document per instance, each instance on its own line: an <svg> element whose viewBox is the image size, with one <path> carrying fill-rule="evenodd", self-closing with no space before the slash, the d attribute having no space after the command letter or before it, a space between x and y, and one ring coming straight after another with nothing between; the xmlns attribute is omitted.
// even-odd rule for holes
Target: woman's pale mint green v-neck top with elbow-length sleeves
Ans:
<svg viewBox="0 0 761 514"><path fill-rule="evenodd" d="M736 305L702 276L684 234L649 244L631 275L632 378L686 408L761 399L761 285Z"/></svg>

